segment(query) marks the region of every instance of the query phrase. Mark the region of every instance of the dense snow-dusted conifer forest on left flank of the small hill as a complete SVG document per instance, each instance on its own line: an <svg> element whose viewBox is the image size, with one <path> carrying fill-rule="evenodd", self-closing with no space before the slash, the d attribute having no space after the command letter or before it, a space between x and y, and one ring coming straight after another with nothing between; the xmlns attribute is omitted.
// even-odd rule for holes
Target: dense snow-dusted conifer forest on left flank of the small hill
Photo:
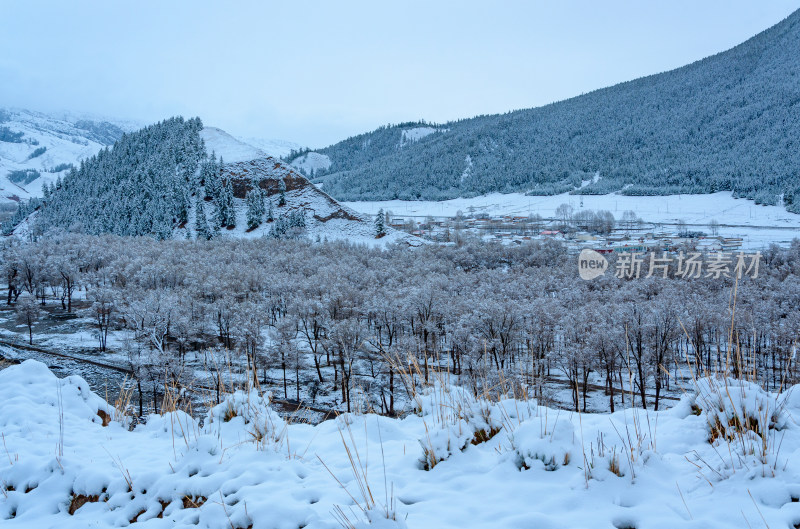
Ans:
<svg viewBox="0 0 800 529"><path fill-rule="evenodd" d="M206 153L194 118L172 118L124 135L83 160L41 200L21 205L12 222L35 211L37 233L54 228L88 234L167 238L188 218L195 175Z"/></svg>

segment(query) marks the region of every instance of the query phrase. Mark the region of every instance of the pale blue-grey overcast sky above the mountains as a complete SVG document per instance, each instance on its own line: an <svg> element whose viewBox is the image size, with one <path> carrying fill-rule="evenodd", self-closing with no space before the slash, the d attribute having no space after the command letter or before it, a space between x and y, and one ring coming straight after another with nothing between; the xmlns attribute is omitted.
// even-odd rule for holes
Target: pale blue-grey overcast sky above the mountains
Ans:
<svg viewBox="0 0 800 529"><path fill-rule="evenodd" d="M0 107L325 146L543 105L728 49L800 0L0 0Z"/></svg>

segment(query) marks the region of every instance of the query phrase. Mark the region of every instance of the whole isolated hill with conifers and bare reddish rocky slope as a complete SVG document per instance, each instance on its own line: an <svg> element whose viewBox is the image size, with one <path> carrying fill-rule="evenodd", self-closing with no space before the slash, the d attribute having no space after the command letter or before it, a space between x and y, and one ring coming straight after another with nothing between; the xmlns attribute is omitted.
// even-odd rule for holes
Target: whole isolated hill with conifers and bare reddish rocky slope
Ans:
<svg viewBox="0 0 800 529"><path fill-rule="evenodd" d="M421 244L388 226L378 233L371 218L260 148L181 117L125 134L82 161L45 185L41 199L21 204L4 231L24 238L69 231Z"/></svg>

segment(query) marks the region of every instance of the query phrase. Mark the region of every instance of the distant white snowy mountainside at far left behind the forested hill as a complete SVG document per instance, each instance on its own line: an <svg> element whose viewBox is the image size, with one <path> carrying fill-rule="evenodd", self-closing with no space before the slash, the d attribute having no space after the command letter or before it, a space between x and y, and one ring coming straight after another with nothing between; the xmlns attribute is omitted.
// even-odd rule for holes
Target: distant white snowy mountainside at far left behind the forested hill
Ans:
<svg viewBox="0 0 800 529"><path fill-rule="evenodd" d="M94 116L0 109L0 203L41 197L42 184L136 128Z"/></svg>

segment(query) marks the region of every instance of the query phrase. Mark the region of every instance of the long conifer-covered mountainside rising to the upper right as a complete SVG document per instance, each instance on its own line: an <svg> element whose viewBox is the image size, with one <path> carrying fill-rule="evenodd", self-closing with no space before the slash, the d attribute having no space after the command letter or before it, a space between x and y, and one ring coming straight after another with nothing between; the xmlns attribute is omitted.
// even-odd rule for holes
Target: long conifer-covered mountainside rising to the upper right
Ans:
<svg viewBox="0 0 800 529"><path fill-rule="evenodd" d="M800 11L677 70L540 108L383 127L321 149L312 168L307 153L289 159L339 200L730 190L797 212L799 52Z"/></svg>

